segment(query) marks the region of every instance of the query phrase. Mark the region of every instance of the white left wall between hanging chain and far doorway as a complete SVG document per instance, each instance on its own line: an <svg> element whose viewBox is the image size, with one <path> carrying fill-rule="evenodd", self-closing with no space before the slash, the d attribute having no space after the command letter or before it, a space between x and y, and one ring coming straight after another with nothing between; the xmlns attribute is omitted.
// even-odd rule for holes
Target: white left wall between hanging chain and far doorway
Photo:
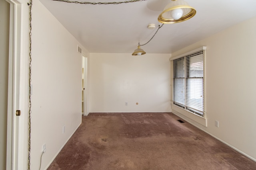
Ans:
<svg viewBox="0 0 256 170"><path fill-rule="evenodd" d="M81 123L82 55L77 45L41 2L33 1L30 169L39 168L46 144L41 166L45 169Z"/></svg>

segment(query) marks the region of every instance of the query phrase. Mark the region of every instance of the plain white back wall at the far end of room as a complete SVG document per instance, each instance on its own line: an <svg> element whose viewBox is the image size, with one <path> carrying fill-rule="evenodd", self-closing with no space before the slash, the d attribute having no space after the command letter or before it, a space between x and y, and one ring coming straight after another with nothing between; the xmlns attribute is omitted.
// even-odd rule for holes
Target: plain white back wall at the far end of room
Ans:
<svg viewBox="0 0 256 170"><path fill-rule="evenodd" d="M90 53L90 112L170 111L169 58Z"/></svg>

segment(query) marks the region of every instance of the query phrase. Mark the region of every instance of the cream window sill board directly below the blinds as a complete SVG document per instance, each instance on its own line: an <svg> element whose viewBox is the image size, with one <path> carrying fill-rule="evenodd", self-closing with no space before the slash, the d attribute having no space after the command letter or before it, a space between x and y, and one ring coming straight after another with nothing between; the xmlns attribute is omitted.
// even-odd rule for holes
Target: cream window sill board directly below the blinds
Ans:
<svg viewBox="0 0 256 170"><path fill-rule="evenodd" d="M172 112L180 117L184 117L186 116L187 118L191 119L192 121L195 121L197 123L199 123L200 125L203 125L205 127L207 127L207 121L205 117L201 117L200 115L194 114L188 110L185 110L181 107L175 106L173 104L171 104L172 106ZM186 118L184 118L186 119Z"/></svg>

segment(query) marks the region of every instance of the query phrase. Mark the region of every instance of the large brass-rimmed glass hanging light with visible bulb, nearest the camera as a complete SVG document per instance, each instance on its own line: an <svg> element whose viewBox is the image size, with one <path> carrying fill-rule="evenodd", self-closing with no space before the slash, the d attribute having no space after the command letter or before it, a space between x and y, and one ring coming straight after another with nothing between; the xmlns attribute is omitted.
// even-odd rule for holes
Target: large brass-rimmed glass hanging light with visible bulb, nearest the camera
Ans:
<svg viewBox="0 0 256 170"><path fill-rule="evenodd" d="M161 23L178 23L186 21L195 15L196 10L184 0L172 0L158 16L158 21Z"/></svg>

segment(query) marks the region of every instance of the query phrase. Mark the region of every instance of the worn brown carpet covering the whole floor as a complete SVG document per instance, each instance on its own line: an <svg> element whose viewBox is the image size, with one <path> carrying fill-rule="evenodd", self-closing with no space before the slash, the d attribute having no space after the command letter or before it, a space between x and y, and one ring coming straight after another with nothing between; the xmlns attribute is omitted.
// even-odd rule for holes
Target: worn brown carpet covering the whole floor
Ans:
<svg viewBox="0 0 256 170"><path fill-rule="evenodd" d="M256 170L172 113L90 113L48 170Z"/></svg>

